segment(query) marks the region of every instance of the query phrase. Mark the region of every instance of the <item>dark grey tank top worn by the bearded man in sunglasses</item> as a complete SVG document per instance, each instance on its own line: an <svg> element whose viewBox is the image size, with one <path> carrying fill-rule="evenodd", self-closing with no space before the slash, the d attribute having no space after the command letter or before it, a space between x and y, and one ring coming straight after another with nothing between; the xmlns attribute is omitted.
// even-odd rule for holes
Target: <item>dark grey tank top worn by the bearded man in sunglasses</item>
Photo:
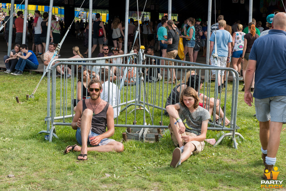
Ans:
<svg viewBox="0 0 286 191"><path fill-rule="evenodd" d="M82 112L84 112L84 110L87 108L85 101L88 99L84 99L82 101ZM103 108L103 110L101 112L99 112L96 115L92 116L92 120L91 120L91 131L93 133L96 133L98 135L101 135L102 133L105 133L106 131L106 113L107 113L107 109L109 107L109 103L106 103L106 106Z"/></svg>

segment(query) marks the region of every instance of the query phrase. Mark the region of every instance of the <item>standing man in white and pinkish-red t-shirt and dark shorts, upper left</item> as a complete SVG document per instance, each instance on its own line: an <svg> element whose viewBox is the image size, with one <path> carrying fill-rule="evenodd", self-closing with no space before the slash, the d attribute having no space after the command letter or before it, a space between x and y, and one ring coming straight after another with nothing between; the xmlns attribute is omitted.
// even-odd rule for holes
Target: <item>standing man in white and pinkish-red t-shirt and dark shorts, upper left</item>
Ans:
<svg viewBox="0 0 286 191"><path fill-rule="evenodd" d="M36 55L38 58L40 58L42 54L42 44L41 44L41 22L43 21L43 18L40 15L40 11L35 10L35 19L34 19L34 30L35 30L35 45L38 47L38 55ZM36 53L37 54L37 53Z"/></svg>

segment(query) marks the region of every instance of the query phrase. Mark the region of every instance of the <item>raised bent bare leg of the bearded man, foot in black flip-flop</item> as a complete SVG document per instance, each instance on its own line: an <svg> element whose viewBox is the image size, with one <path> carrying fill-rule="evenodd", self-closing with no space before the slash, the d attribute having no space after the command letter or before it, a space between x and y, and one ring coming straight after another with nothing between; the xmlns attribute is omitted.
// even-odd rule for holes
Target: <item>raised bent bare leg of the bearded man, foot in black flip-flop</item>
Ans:
<svg viewBox="0 0 286 191"><path fill-rule="evenodd" d="M81 154L87 154L87 138L91 127L93 112L90 109L85 109L81 116ZM78 156L79 160L86 159L87 156Z"/></svg>

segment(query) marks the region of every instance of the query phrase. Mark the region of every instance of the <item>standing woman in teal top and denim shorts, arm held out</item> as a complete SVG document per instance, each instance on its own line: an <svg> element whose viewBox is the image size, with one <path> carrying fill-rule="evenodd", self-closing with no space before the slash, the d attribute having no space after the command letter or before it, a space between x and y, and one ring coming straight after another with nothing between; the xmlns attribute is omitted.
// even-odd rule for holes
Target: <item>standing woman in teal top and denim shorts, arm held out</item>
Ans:
<svg viewBox="0 0 286 191"><path fill-rule="evenodd" d="M186 56L187 53L189 53L189 58L190 58L190 62L193 62L193 50L195 47L195 19L190 17L187 19L187 24L188 26L190 26L188 28L188 30L186 30L186 26L184 26L184 33L186 31L186 36L180 35L181 38L186 38L187 42L184 48L184 54ZM186 57L183 59L183 61L186 60Z"/></svg>

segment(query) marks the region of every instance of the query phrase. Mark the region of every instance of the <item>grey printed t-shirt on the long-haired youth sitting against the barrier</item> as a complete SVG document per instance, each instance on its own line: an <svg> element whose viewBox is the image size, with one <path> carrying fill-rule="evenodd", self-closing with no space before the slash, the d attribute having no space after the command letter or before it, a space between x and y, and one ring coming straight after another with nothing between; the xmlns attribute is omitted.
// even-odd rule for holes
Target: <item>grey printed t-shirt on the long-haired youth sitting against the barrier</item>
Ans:
<svg viewBox="0 0 286 191"><path fill-rule="evenodd" d="M182 106L180 103L178 104L180 105L179 116L186 127L185 131L200 135L202 131L202 121L211 118L208 110L199 106L194 113L191 113L187 107Z"/></svg>

